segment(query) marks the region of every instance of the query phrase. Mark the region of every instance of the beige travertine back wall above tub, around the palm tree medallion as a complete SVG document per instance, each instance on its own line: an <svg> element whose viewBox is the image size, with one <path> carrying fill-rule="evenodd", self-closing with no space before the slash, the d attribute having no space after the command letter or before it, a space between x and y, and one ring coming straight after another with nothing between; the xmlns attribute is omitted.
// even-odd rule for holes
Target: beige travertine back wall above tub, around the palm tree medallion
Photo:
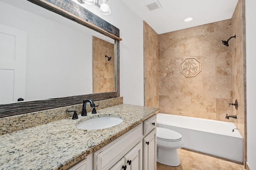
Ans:
<svg viewBox="0 0 256 170"><path fill-rule="evenodd" d="M159 107L161 113L232 122L231 19L159 35ZM196 77L180 73L180 63L202 63Z"/></svg>

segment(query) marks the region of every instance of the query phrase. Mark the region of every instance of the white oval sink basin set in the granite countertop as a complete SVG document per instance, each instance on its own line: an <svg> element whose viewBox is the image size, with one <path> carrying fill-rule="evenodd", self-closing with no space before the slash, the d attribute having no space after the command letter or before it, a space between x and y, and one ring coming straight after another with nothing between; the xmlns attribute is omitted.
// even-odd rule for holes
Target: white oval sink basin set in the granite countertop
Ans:
<svg viewBox="0 0 256 170"><path fill-rule="evenodd" d="M108 127L112 127L121 123L123 119L120 117L113 117L113 116L104 116L104 117L95 117L92 119L88 119L82 121L76 127L78 129L84 130L97 130L97 129L105 129Z"/></svg>

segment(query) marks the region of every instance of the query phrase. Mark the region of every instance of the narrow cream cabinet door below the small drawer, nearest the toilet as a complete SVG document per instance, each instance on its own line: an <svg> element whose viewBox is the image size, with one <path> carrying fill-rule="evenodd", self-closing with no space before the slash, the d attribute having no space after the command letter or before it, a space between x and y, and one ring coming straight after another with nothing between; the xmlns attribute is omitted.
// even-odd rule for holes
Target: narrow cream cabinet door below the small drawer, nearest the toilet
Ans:
<svg viewBox="0 0 256 170"><path fill-rule="evenodd" d="M156 170L156 128L143 139L143 170Z"/></svg>

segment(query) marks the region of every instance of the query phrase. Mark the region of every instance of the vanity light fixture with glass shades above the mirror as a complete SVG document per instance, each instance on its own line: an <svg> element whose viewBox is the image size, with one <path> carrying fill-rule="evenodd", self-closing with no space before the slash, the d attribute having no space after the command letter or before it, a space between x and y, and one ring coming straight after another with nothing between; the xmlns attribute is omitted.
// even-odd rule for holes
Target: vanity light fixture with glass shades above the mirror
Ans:
<svg viewBox="0 0 256 170"><path fill-rule="evenodd" d="M80 4L89 4L89 5L97 5L100 7L100 13L104 15L108 15L111 13L109 5L108 5L108 0L77 0ZM102 1L100 4L99 1Z"/></svg>

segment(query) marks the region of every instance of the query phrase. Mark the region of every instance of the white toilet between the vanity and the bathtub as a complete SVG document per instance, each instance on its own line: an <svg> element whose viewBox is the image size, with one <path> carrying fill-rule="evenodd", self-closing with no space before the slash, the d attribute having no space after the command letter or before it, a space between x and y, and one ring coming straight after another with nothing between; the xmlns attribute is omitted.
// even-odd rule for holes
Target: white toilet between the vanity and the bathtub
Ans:
<svg viewBox="0 0 256 170"><path fill-rule="evenodd" d="M168 166L179 166L177 149L184 145L182 135L176 131L156 127L156 161Z"/></svg>

